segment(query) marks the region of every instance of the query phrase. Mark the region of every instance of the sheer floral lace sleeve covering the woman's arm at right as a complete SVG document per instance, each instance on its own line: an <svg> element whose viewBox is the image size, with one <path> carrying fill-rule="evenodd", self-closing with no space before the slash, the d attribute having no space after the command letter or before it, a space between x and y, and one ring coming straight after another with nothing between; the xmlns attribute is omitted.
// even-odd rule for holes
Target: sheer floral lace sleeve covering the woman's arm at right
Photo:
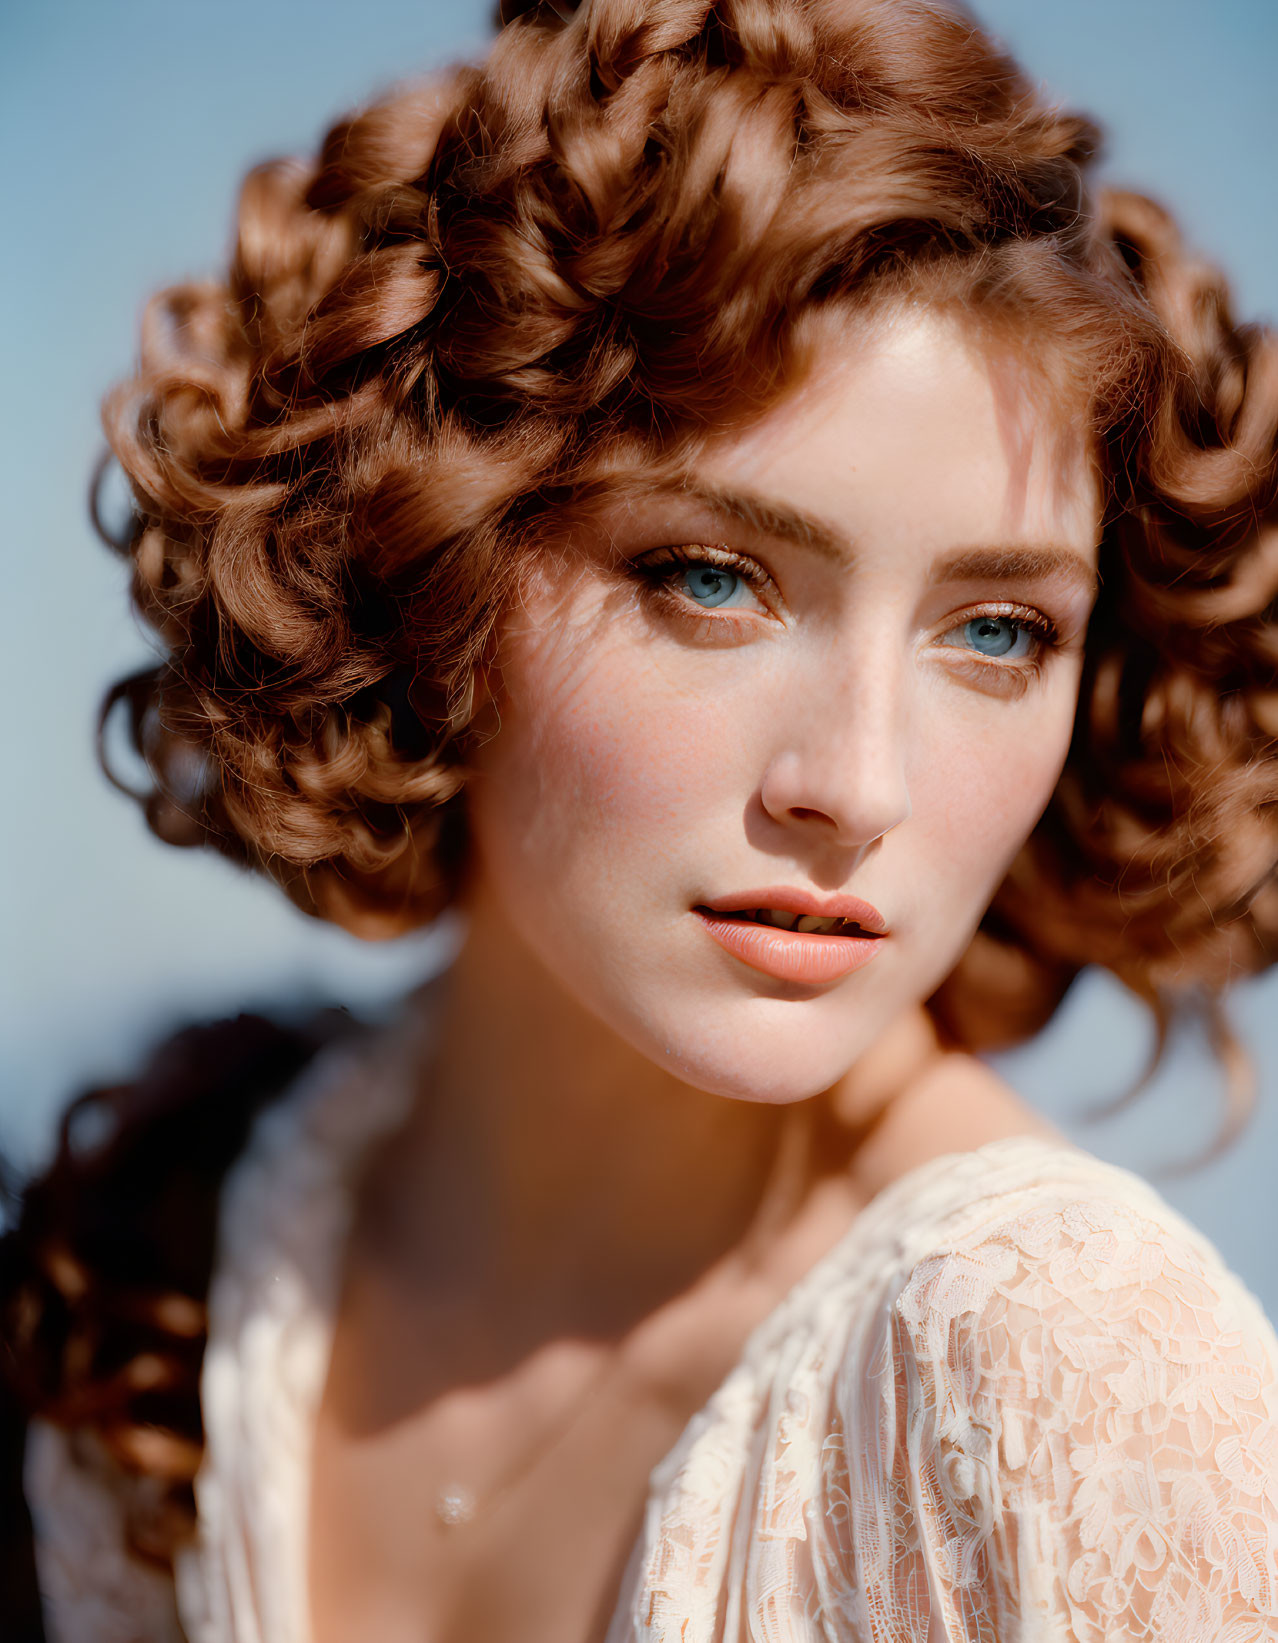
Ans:
<svg viewBox="0 0 1278 1643"><path fill-rule="evenodd" d="M1030 1208L880 1314L876 1640L1278 1640L1278 1339L1150 1199Z"/></svg>

